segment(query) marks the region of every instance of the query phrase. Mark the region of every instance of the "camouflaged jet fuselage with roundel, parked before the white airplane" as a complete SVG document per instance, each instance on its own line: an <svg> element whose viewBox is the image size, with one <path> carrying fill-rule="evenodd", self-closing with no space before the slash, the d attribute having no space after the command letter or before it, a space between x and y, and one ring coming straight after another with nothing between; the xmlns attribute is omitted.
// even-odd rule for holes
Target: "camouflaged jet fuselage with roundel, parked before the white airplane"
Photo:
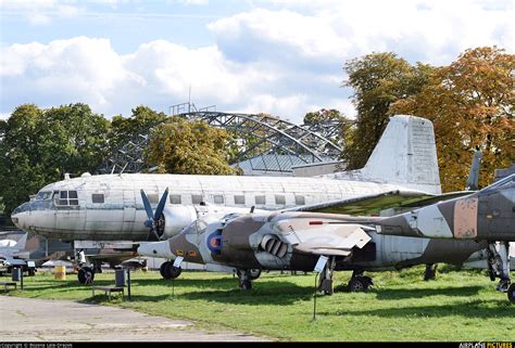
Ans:
<svg viewBox="0 0 515 348"><path fill-rule="evenodd" d="M324 220L330 223L359 222L374 227L381 219L384 218L309 212L243 215L227 222L212 219L202 221L200 225L192 223L179 235L161 242L160 244L166 247L161 248L159 256L167 258L183 256L189 262L217 263L240 269L312 271L318 255L302 253L293 247L294 244L287 243L284 240L284 232L280 232L281 222L288 220L289 229L302 239L302 233L306 229L319 228L310 225L311 220ZM372 240L363 248L353 248L349 257L337 257L335 270L394 270L437 262L462 265L467 260L474 261L483 257L477 255L475 258L473 255L487 246L485 242L475 241L401 237L373 231L368 231L367 234ZM217 235L221 244L216 247L212 240ZM286 243L286 254L279 257L263 249L261 243L265 235L277 236L279 241ZM327 243L331 243L330 240L327 240Z"/></svg>

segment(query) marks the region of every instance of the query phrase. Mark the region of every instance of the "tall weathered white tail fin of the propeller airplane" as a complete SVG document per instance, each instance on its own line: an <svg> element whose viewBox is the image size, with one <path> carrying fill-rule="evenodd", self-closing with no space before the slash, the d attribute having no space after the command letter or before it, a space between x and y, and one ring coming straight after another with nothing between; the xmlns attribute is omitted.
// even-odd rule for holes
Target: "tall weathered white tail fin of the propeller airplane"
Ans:
<svg viewBox="0 0 515 348"><path fill-rule="evenodd" d="M432 123L416 116L390 117L365 167L336 173L335 178L390 183L440 194Z"/></svg>

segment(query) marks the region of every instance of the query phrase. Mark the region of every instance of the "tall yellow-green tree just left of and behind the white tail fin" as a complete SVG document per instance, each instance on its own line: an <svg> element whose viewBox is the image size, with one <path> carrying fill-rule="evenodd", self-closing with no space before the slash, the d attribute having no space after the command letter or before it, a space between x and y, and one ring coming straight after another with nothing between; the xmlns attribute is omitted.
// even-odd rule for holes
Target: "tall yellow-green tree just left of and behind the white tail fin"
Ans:
<svg viewBox="0 0 515 348"><path fill-rule="evenodd" d="M341 158L347 169L357 169L366 164L392 116L390 105L417 93L434 68L422 63L412 66L387 52L348 61L343 69L349 75L343 86L354 89L357 116L346 132Z"/></svg>

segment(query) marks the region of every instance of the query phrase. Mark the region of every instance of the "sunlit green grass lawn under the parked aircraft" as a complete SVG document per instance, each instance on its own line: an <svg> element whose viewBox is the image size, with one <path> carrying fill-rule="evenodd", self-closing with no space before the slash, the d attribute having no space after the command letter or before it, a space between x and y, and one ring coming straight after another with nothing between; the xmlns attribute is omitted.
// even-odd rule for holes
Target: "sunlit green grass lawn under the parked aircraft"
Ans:
<svg viewBox="0 0 515 348"><path fill-rule="evenodd" d="M92 298L75 274L67 281L38 274L10 295L120 306L282 340L515 340L515 306L483 272L442 268L438 280L424 282L423 270L368 273L376 285L367 293L317 297L315 321L313 274L262 274L251 292L241 292L230 274L183 272L172 296L172 281L136 272L133 300L112 302L103 293ZM337 284L350 278L336 274ZM113 273L96 275L97 285L113 283Z"/></svg>

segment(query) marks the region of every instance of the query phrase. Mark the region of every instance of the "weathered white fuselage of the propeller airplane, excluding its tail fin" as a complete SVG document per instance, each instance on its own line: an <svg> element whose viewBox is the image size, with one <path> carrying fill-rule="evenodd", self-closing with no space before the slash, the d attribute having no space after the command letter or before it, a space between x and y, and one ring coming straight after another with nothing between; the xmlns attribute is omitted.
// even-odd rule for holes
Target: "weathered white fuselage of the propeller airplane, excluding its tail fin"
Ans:
<svg viewBox="0 0 515 348"><path fill-rule="evenodd" d="M76 206L55 207L52 199L34 201L18 207L12 217L20 228L51 239L147 241L149 229L143 225L147 215L140 190L160 197L166 188L169 188L169 197L180 197L180 204L172 204L169 199L166 203L165 218L168 215L169 223L177 224L167 236L178 233L197 218L194 195L201 195L202 201L214 206L274 210L403 189L321 178L102 175L59 181L40 191L76 191ZM93 203L92 194L103 194L104 203Z"/></svg>

